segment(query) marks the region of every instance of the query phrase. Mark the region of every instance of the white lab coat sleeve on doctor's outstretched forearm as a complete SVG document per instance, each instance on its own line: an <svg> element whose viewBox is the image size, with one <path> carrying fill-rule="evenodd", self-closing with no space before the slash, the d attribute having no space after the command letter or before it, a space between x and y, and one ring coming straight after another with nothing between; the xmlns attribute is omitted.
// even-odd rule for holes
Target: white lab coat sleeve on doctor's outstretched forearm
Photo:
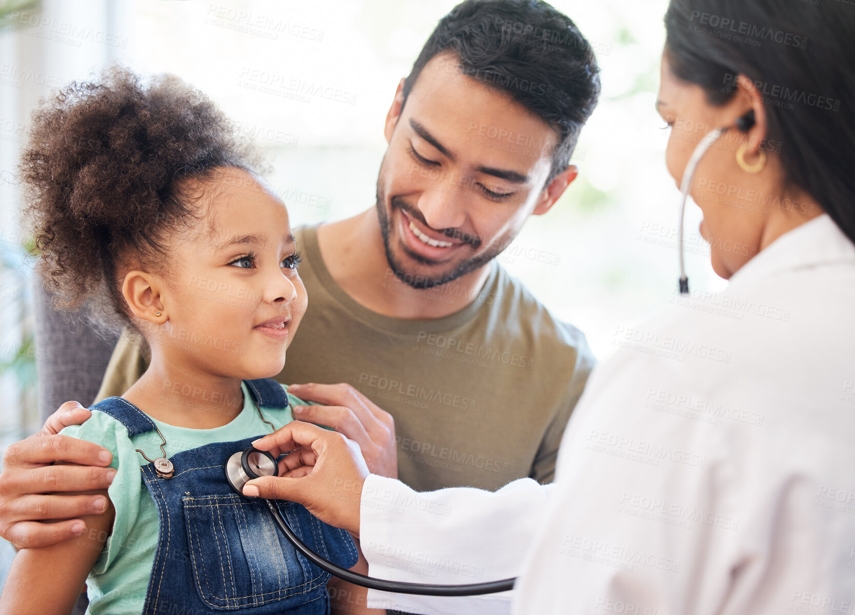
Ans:
<svg viewBox="0 0 855 615"><path fill-rule="evenodd" d="M369 575L449 585L516 577L551 492L551 485L524 478L495 493L474 488L416 493L403 482L371 475L360 510ZM416 613L507 613L512 594L436 597L369 590L369 606Z"/></svg>

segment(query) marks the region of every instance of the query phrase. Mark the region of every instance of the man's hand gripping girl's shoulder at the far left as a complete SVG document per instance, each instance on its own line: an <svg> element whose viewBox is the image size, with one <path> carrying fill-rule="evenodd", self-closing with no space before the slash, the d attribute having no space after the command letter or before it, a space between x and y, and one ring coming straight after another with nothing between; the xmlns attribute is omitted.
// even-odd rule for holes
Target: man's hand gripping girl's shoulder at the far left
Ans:
<svg viewBox="0 0 855 615"><path fill-rule="evenodd" d="M67 401L38 434L15 442L3 454L0 536L15 547L47 547L80 535L86 529L80 517L106 510L103 495L55 494L106 489L115 476L115 470L107 467L113 460L107 449L57 435L89 417L91 412L82 405ZM60 461L78 465L52 465ZM39 523L53 519L67 520Z"/></svg>

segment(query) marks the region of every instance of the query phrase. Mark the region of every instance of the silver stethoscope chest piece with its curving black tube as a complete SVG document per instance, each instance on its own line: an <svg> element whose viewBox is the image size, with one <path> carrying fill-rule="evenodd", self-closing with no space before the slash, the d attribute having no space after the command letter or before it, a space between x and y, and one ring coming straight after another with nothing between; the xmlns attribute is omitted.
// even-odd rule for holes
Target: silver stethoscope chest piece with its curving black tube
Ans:
<svg viewBox="0 0 855 615"><path fill-rule="evenodd" d="M316 565L321 570L327 571L330 574L339 577L340 579L361 585L363 588L380 589L386 592L395 592L397 594L421 594L426 596L474 596L479 594L494 594L496 592L504 592L514 587L516 578L502 579L501 581L490 581L483 583L469 583L466 585L433 585L429 583L407 583L386 581L366 575L358 574L357 572L349 571L339 565L333 564L328 559L322 558L320 555L306 547L303 541L294 533L291 526L288 525L279 507L271 500L264 498L255 498L250 495L244 495L243 488L246 482L253 478L261 478L262 476L279 476L279 466L276 464L276 459L267 451L259 451L257 448L250 446L245 451L235 452L226 462L226 479L228 484L232 486L235 492L250 500L264 500L268 506L270 516L273 517L274 523L280 529L282 534L291 542L295 549L301 553L305 559L308 559L312 564Z"/></svg>

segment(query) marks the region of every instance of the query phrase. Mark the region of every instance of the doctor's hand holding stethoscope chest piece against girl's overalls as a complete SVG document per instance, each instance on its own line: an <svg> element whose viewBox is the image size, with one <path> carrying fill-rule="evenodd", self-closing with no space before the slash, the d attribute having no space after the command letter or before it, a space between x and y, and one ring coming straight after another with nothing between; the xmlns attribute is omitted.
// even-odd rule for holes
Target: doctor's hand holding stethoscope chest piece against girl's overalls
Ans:
<svg viewBox="0 0 855 615"><path fill-rule="evenodd" d="M244 494L268 500L291 500L324 523L359 536L359 501L369 475L359 445L310 423L292 421L252 443L280 459L280 476L246 483Z"/></svg>

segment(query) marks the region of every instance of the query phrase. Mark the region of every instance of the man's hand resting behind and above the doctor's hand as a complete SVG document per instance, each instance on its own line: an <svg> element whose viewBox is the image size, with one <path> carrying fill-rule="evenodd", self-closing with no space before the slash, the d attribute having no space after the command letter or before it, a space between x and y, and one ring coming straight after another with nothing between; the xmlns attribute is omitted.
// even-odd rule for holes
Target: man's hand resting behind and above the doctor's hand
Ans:
<svg viewBox="0 0 855 615"><path fill-rule="evenodd" d="M357 442L372 474L398 478L395 419L349 384L292 384L288 393L322 405L298 405L298 421L331 427Z"/></svg>

